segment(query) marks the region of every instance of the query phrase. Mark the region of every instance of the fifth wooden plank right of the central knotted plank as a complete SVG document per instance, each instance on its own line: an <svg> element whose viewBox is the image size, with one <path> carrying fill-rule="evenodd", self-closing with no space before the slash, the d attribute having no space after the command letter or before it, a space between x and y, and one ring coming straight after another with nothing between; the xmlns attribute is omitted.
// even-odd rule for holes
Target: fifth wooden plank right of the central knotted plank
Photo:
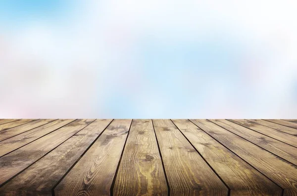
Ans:
<svg viewBox="0 0 297 196"><path fill-rule="evenodd" d="M297 147L297 137L292 136L290 134L284 133L282 131L275 130L273 128L263 126L261 124L248 121L246 119L229 119L231 122L237 123L259 133L262 133L266 136L272 137L279 141L282 141L286 144L290 144L294 147Z"/></svg>

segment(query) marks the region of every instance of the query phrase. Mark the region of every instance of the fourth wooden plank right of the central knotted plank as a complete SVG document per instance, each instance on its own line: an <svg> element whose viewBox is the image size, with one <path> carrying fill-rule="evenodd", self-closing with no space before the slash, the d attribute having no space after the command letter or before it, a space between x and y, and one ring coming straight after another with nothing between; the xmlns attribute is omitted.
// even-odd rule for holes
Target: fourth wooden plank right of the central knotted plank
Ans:
<svg viewBox="0 0 297 196"><path fill-rule="evenodd" d="M225 129L245 138L246 140L266 149L267 151L282 157L291 163L297 165L297 149L293 146L280 142L261 133L252 131L244 126L235 124L228 120L214 119L210 120ZM292 136L294 137L294 136Z"/></svg>

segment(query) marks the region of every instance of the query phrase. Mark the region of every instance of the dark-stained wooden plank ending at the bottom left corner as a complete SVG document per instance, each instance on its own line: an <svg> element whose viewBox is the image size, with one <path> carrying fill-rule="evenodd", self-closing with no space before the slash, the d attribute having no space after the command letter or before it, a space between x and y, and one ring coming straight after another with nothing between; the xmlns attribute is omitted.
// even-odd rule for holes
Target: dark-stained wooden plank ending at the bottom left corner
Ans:
<svg viewBox="0 0 297 196"><path fill-rule="evenodd" d="M111 119L97 119L0 188L2 196L51 196L51 189Z"/></svg>

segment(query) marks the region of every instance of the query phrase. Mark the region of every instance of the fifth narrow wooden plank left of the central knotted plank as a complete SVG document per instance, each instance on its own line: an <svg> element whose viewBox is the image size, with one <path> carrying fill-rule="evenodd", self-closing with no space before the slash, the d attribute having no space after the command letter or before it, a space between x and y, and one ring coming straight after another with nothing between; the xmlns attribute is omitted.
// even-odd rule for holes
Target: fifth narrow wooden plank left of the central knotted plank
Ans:
<svg viewBox="0 0 297 196"><path fill-rule="evenodd" d="M44 124L47 124L51 121L54 121L55 119L39 119L39 120L35 120L33 122L28 122L26 124L22 124L20 126L14 127L14 128L10 128L10 129L6 129L4 131L0 132L0 142L11 138L15 135L18 135L20 133L29 131L31 129L34 129L36 127L42 126Z"/></svg>

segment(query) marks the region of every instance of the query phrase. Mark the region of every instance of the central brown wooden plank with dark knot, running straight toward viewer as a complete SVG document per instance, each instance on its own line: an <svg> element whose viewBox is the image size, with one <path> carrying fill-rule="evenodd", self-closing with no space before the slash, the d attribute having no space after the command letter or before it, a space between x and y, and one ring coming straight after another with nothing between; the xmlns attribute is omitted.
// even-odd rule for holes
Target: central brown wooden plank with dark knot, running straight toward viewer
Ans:
<svg viewBox="0 0 297 196"><path fill-rule="evenodd" d="M134 119L115 180L113 196L167 196L167 193L152 121Z"/></svg>

